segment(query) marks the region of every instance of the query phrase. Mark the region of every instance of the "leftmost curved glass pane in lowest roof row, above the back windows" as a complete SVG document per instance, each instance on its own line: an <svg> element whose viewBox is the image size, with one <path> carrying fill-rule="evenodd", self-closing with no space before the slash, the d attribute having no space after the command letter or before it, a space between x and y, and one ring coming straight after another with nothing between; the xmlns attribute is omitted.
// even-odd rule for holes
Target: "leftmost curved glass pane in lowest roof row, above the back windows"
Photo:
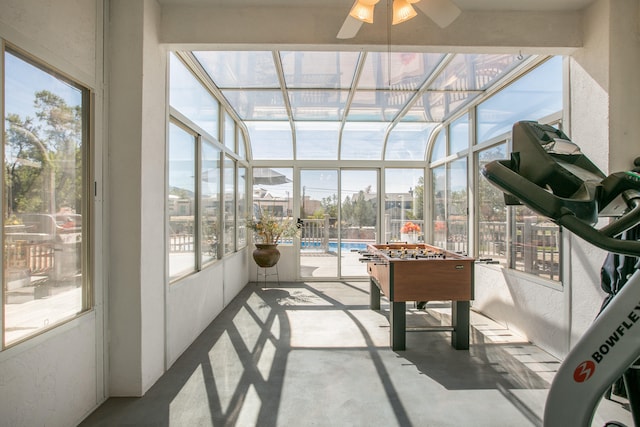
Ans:
<svg viewBox="0 0 640 427"><path fill-rule="evenodd" d="M289 122L245 122L256 160L293 160Z"/></svg>

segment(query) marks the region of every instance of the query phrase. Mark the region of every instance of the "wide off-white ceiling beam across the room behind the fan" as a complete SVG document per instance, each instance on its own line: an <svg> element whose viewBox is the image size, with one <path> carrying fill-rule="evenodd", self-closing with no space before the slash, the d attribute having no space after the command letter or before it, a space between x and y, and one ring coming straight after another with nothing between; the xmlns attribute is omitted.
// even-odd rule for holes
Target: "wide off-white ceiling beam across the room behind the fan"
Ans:
<svg viewBox="0 0 640 427"><path fill-rule="evenodd" d="M161 41L180 48L360 50L568 54L582 47L582 13L464 11L447 28L425 16L391 28L365 24L349 40L336 38L348 8L162 7ZM384 16L382 17L384 18ZM390 37L389 37L390 36ZM232 46L232 47L230 47Z"/></svg>

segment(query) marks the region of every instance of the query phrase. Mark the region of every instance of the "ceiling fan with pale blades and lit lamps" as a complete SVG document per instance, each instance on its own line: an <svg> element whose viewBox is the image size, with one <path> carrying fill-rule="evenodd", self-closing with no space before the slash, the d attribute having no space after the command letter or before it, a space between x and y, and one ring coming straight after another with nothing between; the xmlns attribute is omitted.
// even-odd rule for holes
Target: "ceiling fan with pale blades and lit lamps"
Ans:
<svg viewBox="0 0 640 427"><path fill-rule="evenodd" d="M358 34L363 22L373 23L373 8L380 0L356 0L337 38L351 39ZM440 28L451 24L460 15L460 8L452 0L393 0L392 25L408 21L417 15L415 5Z"/></svg>

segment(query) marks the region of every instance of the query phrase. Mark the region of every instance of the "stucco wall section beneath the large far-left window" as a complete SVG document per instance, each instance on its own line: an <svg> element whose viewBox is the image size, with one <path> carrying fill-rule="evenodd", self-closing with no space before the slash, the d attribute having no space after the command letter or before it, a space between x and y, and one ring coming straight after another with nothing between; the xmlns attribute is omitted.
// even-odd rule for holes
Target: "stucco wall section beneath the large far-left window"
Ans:
<svg viewBox="0 0 640 427"><path fill-rule="evenodd" d="M0 425L73 426L97 404L95 312L0 355Z"/></svg>

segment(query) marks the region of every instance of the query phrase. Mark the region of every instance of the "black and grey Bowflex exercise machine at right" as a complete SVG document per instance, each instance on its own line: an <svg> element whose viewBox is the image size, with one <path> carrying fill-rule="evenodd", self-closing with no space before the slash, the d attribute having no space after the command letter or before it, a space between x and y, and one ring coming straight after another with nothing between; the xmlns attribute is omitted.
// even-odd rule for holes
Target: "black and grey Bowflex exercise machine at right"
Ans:
<svg viewBox="0 0 640 427"><path fill-rule="evenodd" d="M507 205L524 204L606 251L640 256L640 241L619 238L640 223L638 169L606 176L562 131L523 121L513 126L511 159L488 163L482 174L505 193ZM603 216L615 219L595 228ZM633 422L640 426L640 376L634 366L639 357L636 270L560 365L547 396L544 426L590 426L596 405L620 377Z"/></svg>

